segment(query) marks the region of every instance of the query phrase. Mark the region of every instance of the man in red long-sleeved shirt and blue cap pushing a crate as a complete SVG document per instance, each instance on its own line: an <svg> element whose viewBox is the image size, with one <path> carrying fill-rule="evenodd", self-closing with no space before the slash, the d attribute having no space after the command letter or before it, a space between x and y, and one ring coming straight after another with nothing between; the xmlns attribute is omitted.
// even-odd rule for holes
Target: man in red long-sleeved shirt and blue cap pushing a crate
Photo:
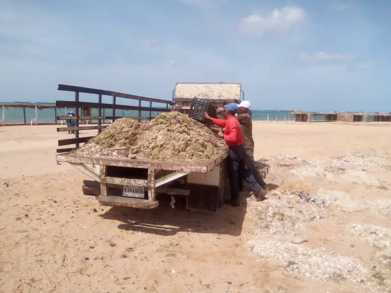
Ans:
<svg viewBox="0 0 391 293"><path fill-rule="evenodd" d="M250 185L258 201L265 199L266 191L257 183L252 173L245 167L246 151L243 147L242 130L239 126L235 114L239 112L238 105L230 103L224 106L226 109L226 120L211 118L205 112L205 118L212 121L215 125L224 127L224 140L228 145L228 177L231 186L231 199L229 203L232 206L240 206L238 179L239 176Z"/></svg>

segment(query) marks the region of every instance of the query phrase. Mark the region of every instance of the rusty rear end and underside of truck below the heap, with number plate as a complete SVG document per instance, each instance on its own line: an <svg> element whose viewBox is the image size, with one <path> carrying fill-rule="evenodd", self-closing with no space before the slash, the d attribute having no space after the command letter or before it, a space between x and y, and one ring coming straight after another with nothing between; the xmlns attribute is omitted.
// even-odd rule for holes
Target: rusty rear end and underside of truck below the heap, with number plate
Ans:
<svg viewBox="0 0 391 293"><path fill-rule="evenodd" d="M227 194L227 153L204 161L161 162L149 159L113 159L57 155L87 174L85 194L96 195L105 206L141 209L158 207L158 193L186 196L186 208L217 212Z"/></svg>

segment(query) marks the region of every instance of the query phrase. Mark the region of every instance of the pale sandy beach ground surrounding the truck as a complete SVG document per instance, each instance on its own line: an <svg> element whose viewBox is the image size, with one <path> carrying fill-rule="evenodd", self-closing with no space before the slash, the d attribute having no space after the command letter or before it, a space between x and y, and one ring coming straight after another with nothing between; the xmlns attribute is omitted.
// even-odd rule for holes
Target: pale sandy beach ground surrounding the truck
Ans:
<svg viewBox="0 0 391 293"><path fill-rule="evenodd" d="M244 198L240 208L207 214L165 201L152 211L101 207L82 195L83 173L55 163L57 140L69 134L55 126L0 127L0 292L386 291L390 130L380 123L256 122L255 158L266 182L280 186L269 195L276 204ZM316 207L306 209L313 220L281 215L288 198L311 204L288 197L292 190L338 200L320 208L319 218ZM280 237L295 228L308 241ZM273 253L278 261L267 257ZM287 262L288 253L300 253L300 263ZM319 257L358 271L346 279L348 271L335 274L321 263L318 270L331 276L321 275ZM363 276L364 284L354 280Z"/></svg>

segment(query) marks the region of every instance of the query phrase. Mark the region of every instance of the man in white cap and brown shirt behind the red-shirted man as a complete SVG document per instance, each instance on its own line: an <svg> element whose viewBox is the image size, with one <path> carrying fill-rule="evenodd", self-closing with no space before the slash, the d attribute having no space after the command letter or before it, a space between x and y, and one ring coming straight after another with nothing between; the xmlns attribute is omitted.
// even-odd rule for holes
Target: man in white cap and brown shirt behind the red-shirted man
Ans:
<svg viewBox="0 0 391 293"><path fill-rule="evenodd" d="M235 115L236 119L239 121L240 127L242 129L243 136L243 147L246 151L246 167L251 171L253 177L257 183L265 190L267 190L267 184L262 178L262 175L259 173L257 166L254 160L254 139L253 139L253 122L251 120L250 108L251 104L249 101L242 101L239 105L239 114ZM224 116L224 111L216 110L220 115ZM242 180L239 182L239 190L242 188Z"/></svg>

